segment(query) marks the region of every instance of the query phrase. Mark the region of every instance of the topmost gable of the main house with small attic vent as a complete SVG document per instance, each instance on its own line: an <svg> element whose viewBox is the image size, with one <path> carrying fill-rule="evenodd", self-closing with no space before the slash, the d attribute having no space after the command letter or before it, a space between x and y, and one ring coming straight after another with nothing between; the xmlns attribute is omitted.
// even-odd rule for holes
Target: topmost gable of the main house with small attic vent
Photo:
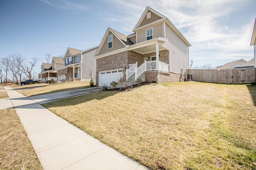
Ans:
<svg viewBox="0 0 256 170"><path fill-rule="evenodd" d="M148 25L150 23L153 23L155 21L158 21L158 20L161 20L164 18L166 18L166 17L163 16L162 14L160 14L159 12L156 12L155 10L147 7L146 10L144 11L144 13L142 14L142 16L140 17L140 20L134 27L134 29L137 29L144 25Z"/></svg>

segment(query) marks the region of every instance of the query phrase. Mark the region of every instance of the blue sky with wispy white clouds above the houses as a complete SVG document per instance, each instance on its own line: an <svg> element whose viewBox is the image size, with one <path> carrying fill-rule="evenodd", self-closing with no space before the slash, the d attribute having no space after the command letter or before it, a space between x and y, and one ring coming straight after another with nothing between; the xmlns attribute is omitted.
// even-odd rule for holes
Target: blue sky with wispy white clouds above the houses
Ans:
<svg viewBox="0 0 256 170"><path fill-rule="evenodd" d="M254 56L256 0L0 0L0 58L37 57L38 74L46 53L99 45L108 27L130 35L147 6L168 17L190 42L193 66Z"/></svg>

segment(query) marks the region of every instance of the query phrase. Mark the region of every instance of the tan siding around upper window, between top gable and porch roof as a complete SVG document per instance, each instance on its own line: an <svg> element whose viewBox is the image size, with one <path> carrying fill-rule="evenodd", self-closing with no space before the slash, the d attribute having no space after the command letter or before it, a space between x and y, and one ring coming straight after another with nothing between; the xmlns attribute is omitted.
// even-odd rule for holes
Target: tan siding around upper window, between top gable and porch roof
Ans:
<svg viewBox="0 0 256 170"><path fill-rule="evenodd" d="M137 43L146 41L146 29L151 28L152 26L146 27L140 31L137 31ZM157 37L163 37L163 26L162 23L153 26L153 39Z"/></svg>

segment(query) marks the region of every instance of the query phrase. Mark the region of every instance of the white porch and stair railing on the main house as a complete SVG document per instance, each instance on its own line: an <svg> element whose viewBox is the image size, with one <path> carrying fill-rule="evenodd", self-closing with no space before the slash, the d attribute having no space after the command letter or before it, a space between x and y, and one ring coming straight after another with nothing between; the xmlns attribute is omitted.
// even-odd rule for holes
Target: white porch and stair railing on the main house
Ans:
<svg viewBox="0 0 256 170"><path fill-rule="evenodd" d="M143 63L138 68L137 66L138 66L137 62L135 64L129 64L129 68L126 70L126 80L128 80L128 78L130 78L133 74L135 74L135 80L137 80L137 78L143 72L156 70L156 61L148 61L148 62L145 61L145 63ZM158 70L169 72L169 64L159 61L158 66L159 66Z"/></svg>

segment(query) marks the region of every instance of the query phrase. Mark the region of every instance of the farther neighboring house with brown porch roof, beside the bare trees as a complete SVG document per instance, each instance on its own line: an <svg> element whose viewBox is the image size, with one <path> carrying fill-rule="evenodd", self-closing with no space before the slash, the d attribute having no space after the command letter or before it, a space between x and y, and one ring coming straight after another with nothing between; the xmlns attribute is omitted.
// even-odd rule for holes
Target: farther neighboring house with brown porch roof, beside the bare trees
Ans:
<svg viewBox="0 0 256 170"><path fill-rule="evenodd" d="M63 58L52 57L52 63L42 63L41 72L38 74L42 82L47 82L48 80L57 81L57 71L56 69L62 67L64 64Z"/></svg>

